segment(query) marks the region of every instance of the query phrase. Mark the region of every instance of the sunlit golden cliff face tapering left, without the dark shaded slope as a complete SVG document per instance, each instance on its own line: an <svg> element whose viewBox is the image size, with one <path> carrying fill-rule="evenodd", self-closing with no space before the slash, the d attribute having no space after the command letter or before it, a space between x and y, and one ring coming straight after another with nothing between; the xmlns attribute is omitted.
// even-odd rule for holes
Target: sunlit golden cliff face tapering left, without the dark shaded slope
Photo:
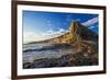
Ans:
<svg viewBox="0 0 110 80"><path fill-rule="evenodd" d="M70 31L68 33L65 33L64 35L42 41L41 43L50 43L50 44L72 44L78 41L78 25L77 22L70 23Z"/></svg>

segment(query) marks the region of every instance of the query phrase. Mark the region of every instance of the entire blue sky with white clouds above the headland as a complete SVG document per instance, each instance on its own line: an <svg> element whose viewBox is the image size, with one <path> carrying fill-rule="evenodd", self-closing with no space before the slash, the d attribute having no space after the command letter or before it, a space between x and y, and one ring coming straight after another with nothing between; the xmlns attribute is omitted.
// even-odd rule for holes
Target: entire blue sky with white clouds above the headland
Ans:
<svg viewBox="0 0 110 80"><path fill-rule="evenodd" d="M23 42L35 42L69 31L72 21L79 21L98 33L98 14L23 11Z"/></svg>

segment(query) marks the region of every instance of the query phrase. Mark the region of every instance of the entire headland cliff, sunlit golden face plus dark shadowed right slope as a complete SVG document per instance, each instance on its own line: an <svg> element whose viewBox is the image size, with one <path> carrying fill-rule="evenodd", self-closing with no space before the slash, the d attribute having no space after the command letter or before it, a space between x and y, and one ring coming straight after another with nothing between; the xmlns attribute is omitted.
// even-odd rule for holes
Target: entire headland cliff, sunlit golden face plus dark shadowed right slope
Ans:
<svg viewBox="0 0 110 80"><path fill-rule="evenodd" d="M75 21L70 23L70 31L64 35L41 41L38 43L50 43L50 44L73 44L80 42L81 39L86 41L98 41L98 35L88 27L81 25L79 22Z"/></svg>

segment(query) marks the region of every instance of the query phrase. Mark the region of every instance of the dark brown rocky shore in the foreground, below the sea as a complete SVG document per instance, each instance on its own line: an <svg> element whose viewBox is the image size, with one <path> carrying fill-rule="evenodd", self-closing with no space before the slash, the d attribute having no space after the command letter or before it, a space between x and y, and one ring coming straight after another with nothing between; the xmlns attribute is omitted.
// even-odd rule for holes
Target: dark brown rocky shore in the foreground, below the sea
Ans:
<svg viewBox="0 0 110 80"><path fill-rule="evenodd" d="M58 45L59 47L61 45ZM63 55L59 58L41 58L33 62L24 62L23 68L52 68L52 67L72 67L72 66L94 66L98 65L97 47L92 43L81 42L80 50L77 45L76 53ZM54 48L57 46L54 46ZM62 46L63 47L63 46ZM69 46L70 47L70 46Z"/></svg>

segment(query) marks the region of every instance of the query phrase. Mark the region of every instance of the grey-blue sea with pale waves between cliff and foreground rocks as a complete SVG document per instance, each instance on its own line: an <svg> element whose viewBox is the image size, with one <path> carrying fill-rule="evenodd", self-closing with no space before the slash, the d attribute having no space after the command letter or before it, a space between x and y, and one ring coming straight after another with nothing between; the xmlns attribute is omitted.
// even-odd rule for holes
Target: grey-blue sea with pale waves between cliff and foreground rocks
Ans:
<svg viewBox="0 0 110 80"><path fill-rule="evenodd" d="M42 58L59 58L73 53L74 48L70 45L23 44L23 62L33 62Z"/></svg>

